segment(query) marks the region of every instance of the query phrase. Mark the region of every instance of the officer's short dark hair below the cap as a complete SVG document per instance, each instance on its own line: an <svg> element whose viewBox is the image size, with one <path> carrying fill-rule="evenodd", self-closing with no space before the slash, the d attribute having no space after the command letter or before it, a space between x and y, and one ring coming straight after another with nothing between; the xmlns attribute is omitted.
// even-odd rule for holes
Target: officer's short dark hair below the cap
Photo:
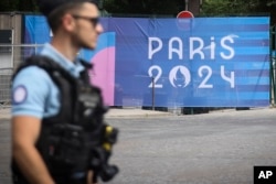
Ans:
<svg viewBox="0 0 276 184"><path fill-rule="evenodd" d="M65 3L64 6L61 6L53 10L46 18L47 18L47 23L52 30L53 33L56 32L56 30L61 25L61 20L62 17L67 13L67 12L73 12L82 9L84 2L68 2Z"/></svg>

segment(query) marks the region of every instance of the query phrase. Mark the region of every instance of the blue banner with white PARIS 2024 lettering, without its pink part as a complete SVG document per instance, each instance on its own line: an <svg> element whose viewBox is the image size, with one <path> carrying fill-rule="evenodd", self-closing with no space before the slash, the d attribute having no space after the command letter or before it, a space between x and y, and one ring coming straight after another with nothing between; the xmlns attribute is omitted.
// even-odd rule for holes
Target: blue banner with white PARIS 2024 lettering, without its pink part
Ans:
<svg viewBox="0 0 276 184"><path fill-rule="evenodd" d="M104 18L102 23L115 45L115 106L269 105L269 18Z"/></svg>

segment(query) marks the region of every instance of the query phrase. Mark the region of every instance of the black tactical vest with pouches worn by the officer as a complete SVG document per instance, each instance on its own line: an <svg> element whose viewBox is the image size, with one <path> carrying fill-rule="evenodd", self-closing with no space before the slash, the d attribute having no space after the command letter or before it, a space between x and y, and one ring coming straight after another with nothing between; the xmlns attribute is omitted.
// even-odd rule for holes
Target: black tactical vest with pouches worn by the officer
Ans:
<svg viewBox="0 0 276 184"><path fill-rule="evenodd" d="M28 58L13 75L14 78L28 66L39 66L46 71L60 89L60 111L56 116L42 120L36 143L57 184L85 183L83 180L86 171L92 169L94 172L99 172L103 170L103 162L110 155L110 148L109 150L103 148L107 126L103 121L106 108L103 106L100 90L89 84L88 69L92 65L85 62L82 64L86 69L76 79L51 58L36 55ZM110 143L115 143L116 136L110 133L109 137L112 137ZM107 154L104 153L106 151ZM102 172L102 177L106 177L106 172L113 172L112 175L107 174L106 181L108 181L118 170L116 166L109 166L107 162L104 165L108 171ZM12 173L13 183L28 184L13 160Z"/></svg>

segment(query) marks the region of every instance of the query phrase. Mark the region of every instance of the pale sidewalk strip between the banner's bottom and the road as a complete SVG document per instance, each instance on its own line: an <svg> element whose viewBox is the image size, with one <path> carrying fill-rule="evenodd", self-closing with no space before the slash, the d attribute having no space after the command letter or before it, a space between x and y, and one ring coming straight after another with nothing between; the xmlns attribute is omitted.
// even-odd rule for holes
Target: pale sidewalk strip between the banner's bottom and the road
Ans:
<svg viewBox="0 0 276 184"><path fill-rule="evenodd" d="M0 109L0 119L10 119L11 113L10 108L1 108ZM171 112L164 111L155 111L155 110L142 110L138 108L124 108L124 109L115 109L110 108L106 113L106 118L147 118L147 117L160 117L160 116L172 116Z"/></svg>

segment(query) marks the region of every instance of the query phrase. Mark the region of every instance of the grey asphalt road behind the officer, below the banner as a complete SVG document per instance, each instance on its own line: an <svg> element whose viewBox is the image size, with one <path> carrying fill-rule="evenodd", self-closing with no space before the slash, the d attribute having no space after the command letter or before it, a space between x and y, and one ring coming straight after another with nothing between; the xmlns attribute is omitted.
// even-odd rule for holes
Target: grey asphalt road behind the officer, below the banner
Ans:
<svg viewBox="0 0 276 184"><path fill-rule="evenodd" d="M254 165L276 165L276 109L108 122L120 129L110 184L253 184ZM0 136L0 183L9 184L7 120Z"/></svg>

